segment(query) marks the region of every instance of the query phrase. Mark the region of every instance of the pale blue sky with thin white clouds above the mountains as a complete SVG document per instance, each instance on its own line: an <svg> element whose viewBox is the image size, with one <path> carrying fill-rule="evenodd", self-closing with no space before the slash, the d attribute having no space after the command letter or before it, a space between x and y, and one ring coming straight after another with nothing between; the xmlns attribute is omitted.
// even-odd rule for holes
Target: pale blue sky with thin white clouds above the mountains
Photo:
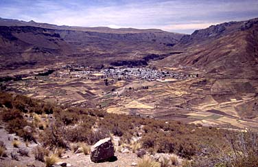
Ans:
<svg viewBox="0 0 258 167"><path fill-rule="evenodd" d="M56 25L157 28L191 34L258 17L257 0L0 0L0 17Z"/></svg>

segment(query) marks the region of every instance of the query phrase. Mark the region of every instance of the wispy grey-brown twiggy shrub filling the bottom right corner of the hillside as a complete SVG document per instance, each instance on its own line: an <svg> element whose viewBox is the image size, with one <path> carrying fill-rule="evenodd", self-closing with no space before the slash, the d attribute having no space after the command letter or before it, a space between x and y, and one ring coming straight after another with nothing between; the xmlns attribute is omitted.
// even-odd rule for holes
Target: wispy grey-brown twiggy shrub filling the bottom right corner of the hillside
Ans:
<svg viewBox="0 0 258 167"><path fill-rule="evenodd" d="M202 166L258 166L258 134L228 132L226 144L208 145L204 156L193 157L193 167Z"/></svg>

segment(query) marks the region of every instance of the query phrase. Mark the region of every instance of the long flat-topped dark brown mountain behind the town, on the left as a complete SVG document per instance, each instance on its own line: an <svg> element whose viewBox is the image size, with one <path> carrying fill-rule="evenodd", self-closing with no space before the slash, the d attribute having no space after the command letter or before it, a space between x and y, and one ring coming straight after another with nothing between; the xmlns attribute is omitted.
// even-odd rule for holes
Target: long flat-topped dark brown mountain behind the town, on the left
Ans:
<svg viewBox="0 0 258 167"><path fill-rule="evenodd" d="M1 69L15 69L58 62L102 65L142 60L153 52L170 52L182 36L155 29L70 27L0 19L0 65Z"/></svg>

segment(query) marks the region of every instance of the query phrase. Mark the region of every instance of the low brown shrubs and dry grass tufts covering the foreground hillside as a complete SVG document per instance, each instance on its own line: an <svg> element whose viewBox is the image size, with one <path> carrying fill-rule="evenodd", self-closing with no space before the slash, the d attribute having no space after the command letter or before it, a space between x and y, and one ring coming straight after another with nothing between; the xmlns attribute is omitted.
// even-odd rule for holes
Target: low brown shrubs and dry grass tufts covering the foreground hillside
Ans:
<svg viewBox="0 0 258 167"><path fill-rule="evenodd" d="M9 106L12 108L3 109L1 120L7 124L6 129L10 133L16 133L25 141L36 141L34 132L25 131L24 127L29 126L34 129L39 124L27 122L24 116L25 111L17 109L18 104L12 104L18 99L23 100L23 98L13 98L9 101ZM34 120L36 118L38 122L42 122L42 119L48 118L45 111L42 112L43 116L39 113L36 115L35 109L30 108L32 104L34 107L37 104L38 107L42 107L44 103L27 98L23 102L23 105L29 107L26 108L28 109L26 112L34 115ZM117 115L97 109L54 107L53 114L54 118L49 126L44 126L37 132L40 133L37 140L52 151L55 148L58 149L54 153L59 157L67 149L69 142L73 143L70 145L73 152L80 147L84 154L89 154L87 145L94 144L104 137L117 135L121 139L117 151L121 151L123 147L128 148L133 153L137 153L139 157L143 157L147 151L151 154L174 153L185 158L183 166L197 167L213 164L213 166L238 167L257 163L258 137L256 133L231 132L182 122ZM134 139L139 137L139 141L132 142L132 137ZM17 141L14 142L13 146L18 147ZM77 142L83 144L76 144ZM0 150L3 152L4 148ZM44 162L44 157L49 155L47 152L44 148L37 147L34 151L35 159ZM143 159L146 159L146 156ZM192 161L190 162L189 159ZM168 162L174 166L178 165L176 157L164 160L161 166L167 166Z"/></svg>

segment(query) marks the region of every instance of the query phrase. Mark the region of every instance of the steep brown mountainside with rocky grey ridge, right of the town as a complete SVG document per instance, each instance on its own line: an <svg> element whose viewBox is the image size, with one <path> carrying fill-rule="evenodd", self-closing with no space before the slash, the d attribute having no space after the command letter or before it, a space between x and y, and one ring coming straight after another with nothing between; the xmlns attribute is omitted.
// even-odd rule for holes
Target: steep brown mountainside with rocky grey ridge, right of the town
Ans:
<svg viewBox="0 0 258 167"><path fill-rule="evenodd" d="M258 18L196 30L174 47L186 49L183 54L160 60L158 66L196 67L209 74L257 78Z"/></svg>

